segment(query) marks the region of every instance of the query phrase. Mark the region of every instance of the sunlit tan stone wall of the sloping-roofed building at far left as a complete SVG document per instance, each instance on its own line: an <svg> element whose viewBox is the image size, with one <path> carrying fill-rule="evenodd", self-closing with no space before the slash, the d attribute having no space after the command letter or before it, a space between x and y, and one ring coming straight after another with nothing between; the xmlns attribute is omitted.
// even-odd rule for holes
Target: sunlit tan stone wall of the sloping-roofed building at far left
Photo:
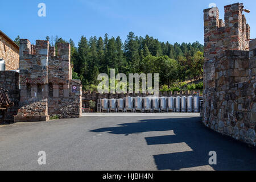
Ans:
<svg viewBox="0 0 256 182"><path fill-rule="evenodd" d="M19 46L0 31L0 59L5 60L5 69L19 69Z"/></svg>

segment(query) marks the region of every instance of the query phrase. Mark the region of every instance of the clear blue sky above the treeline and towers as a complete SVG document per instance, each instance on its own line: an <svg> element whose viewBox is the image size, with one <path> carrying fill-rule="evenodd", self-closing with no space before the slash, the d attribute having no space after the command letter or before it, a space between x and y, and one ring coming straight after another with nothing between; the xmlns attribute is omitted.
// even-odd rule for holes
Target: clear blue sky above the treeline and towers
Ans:
<svg viewBox="0 0 256 182"><path fill-rule="evenodd" d="M38 4L46 4L46 17L38 16ZM46 36L55 36L77 44L81 35L121 36L125 41L127 34L146 34L161 42L182 43L199 41L203 44L203 10L210 3L216 3L220 9L220 18L224 19L224 6L238 2L219 0L31 0L1 1L0 30L11 39L20 38L44 40ZM247 23L251 27L251 38L256 38L256 2L243 0Z"/></svg>

